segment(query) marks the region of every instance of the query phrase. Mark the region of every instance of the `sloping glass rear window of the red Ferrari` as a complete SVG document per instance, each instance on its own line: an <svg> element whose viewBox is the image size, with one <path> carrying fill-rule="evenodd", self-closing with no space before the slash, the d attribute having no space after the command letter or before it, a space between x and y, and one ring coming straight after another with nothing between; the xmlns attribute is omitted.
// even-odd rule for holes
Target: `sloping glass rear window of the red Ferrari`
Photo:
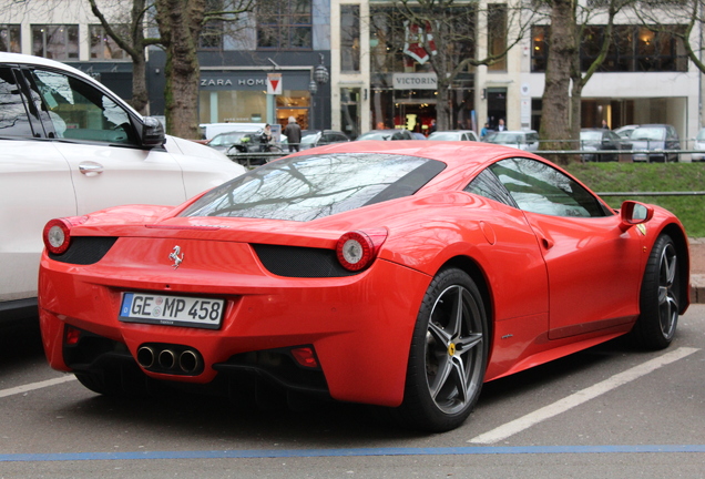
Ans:
<svg viewBox="0 0 705 479"><path fill-rule="evenodd" d="M445 167L436 160L379 153L297 156L214 188L181 216L307 222L412 195Z"/></svg>

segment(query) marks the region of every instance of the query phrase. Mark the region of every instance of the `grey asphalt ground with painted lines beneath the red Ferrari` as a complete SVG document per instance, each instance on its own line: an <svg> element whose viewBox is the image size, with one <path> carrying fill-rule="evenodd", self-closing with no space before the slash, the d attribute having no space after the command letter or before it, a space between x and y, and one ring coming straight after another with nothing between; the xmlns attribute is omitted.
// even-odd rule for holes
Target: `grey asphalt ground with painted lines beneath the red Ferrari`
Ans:
<svg viewBox="0 0 705 479"><path fill-rule="evenodd" d="M1 336L0 478L705 478L705 305L666 350L616 340L487 384L442 435L347 404L105 398L35 330Z"/></svg>

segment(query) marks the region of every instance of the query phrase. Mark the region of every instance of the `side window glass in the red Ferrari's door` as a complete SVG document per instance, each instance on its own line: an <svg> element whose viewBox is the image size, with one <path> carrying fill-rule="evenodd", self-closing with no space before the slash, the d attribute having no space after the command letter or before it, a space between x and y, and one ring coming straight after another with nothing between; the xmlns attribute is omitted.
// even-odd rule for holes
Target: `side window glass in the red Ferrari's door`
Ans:
<svg viewBox="0 0 705 479"><path fill-rule="evenodd" d="M553 216L606 216L602 203L552 166L529 159L508 159L489 166L524 211Z"/></svg>

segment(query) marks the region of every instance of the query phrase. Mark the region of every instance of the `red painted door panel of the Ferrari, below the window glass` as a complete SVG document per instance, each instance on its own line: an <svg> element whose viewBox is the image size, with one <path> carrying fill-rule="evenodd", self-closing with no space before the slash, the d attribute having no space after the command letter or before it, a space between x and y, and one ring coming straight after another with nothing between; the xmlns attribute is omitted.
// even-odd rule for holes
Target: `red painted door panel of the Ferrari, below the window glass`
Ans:
<svg viewBox="0 0 705 479"><path fill-rule="evenodd" d="M633 320L644 261L641 233L619 215L561 217L527 212L549 272L549 338Z"/></svg>

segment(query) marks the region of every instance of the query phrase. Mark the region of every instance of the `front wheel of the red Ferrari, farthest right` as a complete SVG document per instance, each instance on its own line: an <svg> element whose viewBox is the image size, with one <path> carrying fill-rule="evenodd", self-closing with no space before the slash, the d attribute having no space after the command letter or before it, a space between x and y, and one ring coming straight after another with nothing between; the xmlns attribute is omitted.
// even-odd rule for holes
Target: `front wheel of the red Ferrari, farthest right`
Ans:
<svg viewBox="0 0 705 479"><path fill-rule="evenodd" d="M648 256L640 296L640 316L632 329L638 346L648 349L667 347L678 323L681 277L673 240L661 235Z"/></svg>

